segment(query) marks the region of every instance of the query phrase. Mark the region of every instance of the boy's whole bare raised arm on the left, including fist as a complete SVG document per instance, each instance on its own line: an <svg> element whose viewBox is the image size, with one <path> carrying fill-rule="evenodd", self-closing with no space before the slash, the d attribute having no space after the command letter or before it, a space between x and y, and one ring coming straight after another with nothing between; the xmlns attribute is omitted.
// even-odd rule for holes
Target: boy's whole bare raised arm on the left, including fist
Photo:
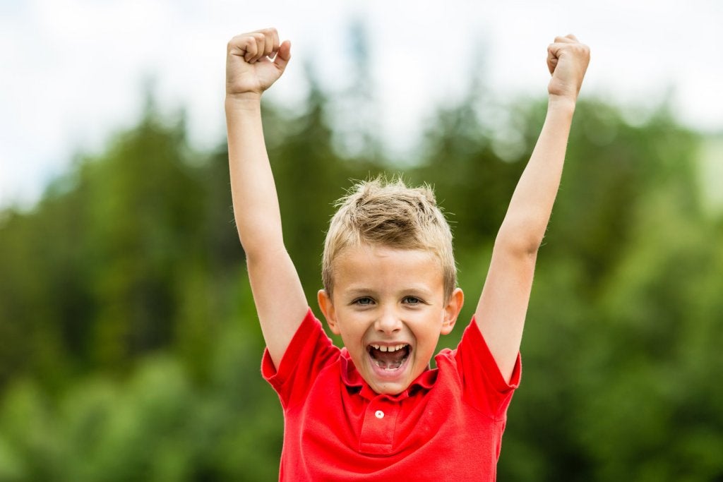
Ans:
<svg viewBox="0 0 723 482"><path fill-rule="evenodd" d="M281 214L261 125L261 95L291 59L275 29L237 35L226 54L226 128L231 194L266 346L279 366L307 311L281 233Z"/></svg>

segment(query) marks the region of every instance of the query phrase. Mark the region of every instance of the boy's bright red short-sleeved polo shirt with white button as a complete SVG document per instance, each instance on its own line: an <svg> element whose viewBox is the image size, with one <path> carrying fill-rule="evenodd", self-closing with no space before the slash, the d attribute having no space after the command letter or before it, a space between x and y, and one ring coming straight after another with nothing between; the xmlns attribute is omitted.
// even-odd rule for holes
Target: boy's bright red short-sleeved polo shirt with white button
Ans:
<svg viewBox="0 0 723 482"><path fill-rule="evenodd" d="M455 350L399 395L377 395L309 310L278 371L262 374L284 413L283 481L494 481L517 387L500 374L474 319Z"/></svg>

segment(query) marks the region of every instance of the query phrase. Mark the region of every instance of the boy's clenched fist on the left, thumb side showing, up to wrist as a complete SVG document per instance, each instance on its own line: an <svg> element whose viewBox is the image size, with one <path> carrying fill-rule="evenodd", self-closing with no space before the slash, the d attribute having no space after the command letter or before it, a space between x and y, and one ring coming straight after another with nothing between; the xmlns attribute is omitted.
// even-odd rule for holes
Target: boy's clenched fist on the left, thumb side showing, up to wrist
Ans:
<svg viewBox="0 0 723 482"><path fill-rule="evenodd" d="M291 42L279 43L275 28L236 35L226 49L226 96L260 98L289 59Z"/></svg>

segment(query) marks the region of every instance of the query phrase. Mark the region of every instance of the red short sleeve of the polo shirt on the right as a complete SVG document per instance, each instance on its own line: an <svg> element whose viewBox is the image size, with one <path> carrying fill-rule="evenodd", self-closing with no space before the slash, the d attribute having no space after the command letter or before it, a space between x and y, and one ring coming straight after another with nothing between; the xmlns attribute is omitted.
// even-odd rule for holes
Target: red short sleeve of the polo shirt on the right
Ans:
<svg viewBox="0 0 723 482"><path fill-rule="evenodd" d="M464 330L455 358L464 397L495 419L505 418L512 394L520 384L522 363L518 353L510 382L506 382L474 317Z"/></svg>

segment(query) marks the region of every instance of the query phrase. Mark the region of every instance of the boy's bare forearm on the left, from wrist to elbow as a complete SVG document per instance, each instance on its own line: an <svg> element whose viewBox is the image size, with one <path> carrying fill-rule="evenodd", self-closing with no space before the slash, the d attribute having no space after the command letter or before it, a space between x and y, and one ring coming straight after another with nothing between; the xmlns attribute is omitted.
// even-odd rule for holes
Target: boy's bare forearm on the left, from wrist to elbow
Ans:
<svg viewBox="0 0 723 482"><path fill-rule="evenodd" d="M226 98L228 166L239 238L248 257L283 248L281 215L266 152L260 98Z"/></svg>

